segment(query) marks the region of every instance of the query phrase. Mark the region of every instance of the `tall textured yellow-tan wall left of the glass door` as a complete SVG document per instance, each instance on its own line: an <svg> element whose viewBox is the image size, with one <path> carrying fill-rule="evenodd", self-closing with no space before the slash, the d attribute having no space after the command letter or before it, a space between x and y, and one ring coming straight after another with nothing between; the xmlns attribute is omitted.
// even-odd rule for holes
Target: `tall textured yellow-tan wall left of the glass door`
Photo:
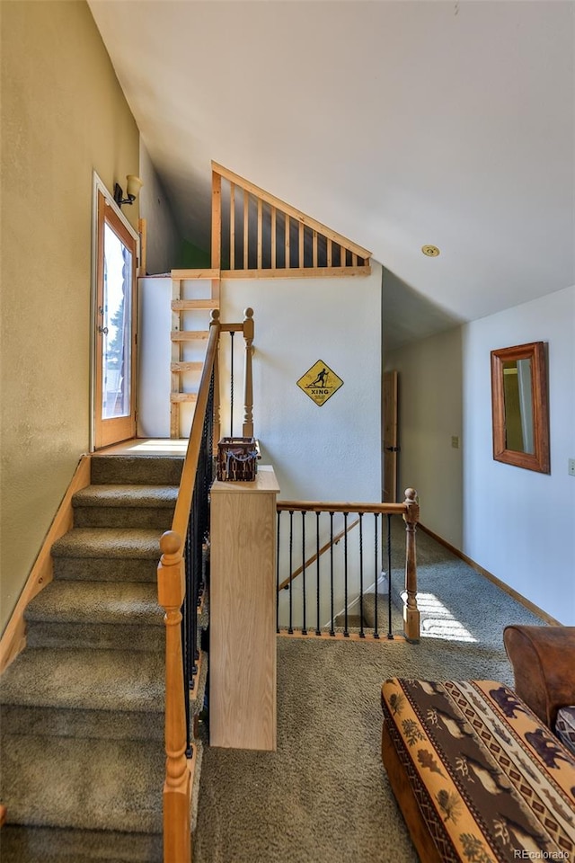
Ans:
<svg viewBox="0 0 575 863"><path fill-rule="evenodd" d="M4 628L89 445L93 170L123 184L139 134L84 0L1 23Z"/></svg>

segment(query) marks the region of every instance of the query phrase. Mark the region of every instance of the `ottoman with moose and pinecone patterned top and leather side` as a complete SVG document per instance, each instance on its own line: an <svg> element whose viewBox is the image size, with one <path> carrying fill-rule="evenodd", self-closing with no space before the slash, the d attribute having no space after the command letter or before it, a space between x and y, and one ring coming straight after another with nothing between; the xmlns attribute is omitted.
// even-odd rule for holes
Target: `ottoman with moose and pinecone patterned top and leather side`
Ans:
<svg viewBox="0 0 575 863"><path fill-rule="evenodd" d="M575 757L496 681L386 681L385 724L447 863L575 863Z"/></svg>

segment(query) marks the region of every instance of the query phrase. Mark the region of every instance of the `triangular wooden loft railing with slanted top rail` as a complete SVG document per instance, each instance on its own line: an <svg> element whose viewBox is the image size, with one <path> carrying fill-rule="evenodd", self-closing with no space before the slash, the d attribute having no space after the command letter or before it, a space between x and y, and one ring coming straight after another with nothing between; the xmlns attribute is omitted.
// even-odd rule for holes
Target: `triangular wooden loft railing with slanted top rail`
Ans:
<svg viewBox="0 0 575 863"><path fill-rule="evenodd" d="M212 162L212 267L226 278L358 276L371 252Z"/></svg>

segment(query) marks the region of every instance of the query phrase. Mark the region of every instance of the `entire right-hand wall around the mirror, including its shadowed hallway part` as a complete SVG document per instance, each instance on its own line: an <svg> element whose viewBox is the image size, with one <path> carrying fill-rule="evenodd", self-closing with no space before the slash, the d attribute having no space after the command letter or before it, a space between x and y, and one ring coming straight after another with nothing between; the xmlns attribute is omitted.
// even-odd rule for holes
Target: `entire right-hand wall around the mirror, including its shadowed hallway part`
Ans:
<svg viewBox="0 0 575 863"><path fill-rule="evenodd" d="M551 474L493 460L490 352L548 345ZM575 288L385 358L399 369L401 478L421 521L565 625L575 625ZM461 449L451 435L461 434Z"/></svg>

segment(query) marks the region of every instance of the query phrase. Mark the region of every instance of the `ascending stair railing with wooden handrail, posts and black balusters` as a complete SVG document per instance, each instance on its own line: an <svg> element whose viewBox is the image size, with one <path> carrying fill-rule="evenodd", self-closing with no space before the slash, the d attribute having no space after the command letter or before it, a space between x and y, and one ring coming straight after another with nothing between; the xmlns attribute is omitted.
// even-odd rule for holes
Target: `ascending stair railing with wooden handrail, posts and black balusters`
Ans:
<svg viewBox="0 0 575 863"><path fill-rule="evenodd" d="M222 332L241 331L246 343L243 432L252 432L253 311L243 324L221 324L211 313L208 347L181 472L172 529L160 539L158 601L165 624L164 863L190 863L191 745L190 690L198 676L198 608L207 586L209 488L219 437L219 344Z"/></svg>

